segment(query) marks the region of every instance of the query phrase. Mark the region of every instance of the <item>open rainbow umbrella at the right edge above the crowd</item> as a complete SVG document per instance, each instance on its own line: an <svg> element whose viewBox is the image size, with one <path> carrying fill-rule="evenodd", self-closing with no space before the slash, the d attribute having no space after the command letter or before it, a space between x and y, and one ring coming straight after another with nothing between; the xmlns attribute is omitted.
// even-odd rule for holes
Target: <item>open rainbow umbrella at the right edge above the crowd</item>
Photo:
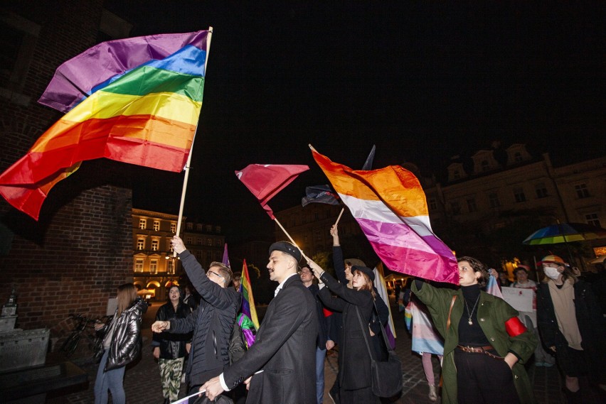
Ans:
<svg viewBox="0 0 606 404"><path fill-rule="evenodd" d="M569 243L606 237L606 229L586 223L558 223L538 229L526 237L522 244L538 246L541 244Z"/></svg>

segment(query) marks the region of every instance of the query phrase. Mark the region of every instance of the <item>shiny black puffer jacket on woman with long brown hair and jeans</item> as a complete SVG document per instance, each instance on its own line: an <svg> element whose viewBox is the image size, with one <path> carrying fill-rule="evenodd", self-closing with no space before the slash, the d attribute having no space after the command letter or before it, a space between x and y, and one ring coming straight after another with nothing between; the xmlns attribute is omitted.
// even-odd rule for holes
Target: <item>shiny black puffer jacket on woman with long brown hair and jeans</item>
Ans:
<svg viewBox="0 0 606 404"><path fill-rule="evenodd" d="M105 371L126 366L139 356L142 344L141 319L146 311L147 303L141 297L137 297L119 318L114 315L112 321L103 327L103 332L107 332L112 324L116 323Z"/></svg>

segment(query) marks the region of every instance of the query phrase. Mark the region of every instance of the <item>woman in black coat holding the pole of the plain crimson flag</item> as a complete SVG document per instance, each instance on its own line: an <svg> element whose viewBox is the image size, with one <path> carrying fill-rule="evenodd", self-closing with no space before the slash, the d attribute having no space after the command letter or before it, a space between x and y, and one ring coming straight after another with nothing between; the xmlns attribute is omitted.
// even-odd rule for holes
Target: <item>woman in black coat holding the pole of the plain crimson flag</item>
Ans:
<svg viewBox="0 0 606 404"><path fill-rule="evenodd" d="M368 323L371 321L375 298L373 271L366 266L353 266L351 268L353 289L349 289L329 273L324 272L314 261L309 261L309 268L312 268L314 275L326 285L326 288L319 291L319 297L324 305L343 313L339 375L337 375L340 386L339 400L341 403L352 404L379 403L379 398L372 391L371 356L362 334L366 333L368 340L371 340ZM332 297L331 291L337 297ZM371 351L372 355L376 356L374 350Z"/></svg>

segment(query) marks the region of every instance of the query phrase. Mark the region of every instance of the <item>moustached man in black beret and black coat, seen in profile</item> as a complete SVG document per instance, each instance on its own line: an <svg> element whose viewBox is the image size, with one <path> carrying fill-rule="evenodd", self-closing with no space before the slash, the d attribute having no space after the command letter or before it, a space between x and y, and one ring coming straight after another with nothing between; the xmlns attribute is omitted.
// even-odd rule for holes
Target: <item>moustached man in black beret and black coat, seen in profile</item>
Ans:
<svg viewBox="0 0 606 404"><path fill-rule="evenodd" d="M316 339L314 297L297 276L301 252L280 241L270 246L267 269L280 283L267 307L255 344L219 377L206 382L213 400L238 384L248 384L246 403L316 403Z"/></svg>

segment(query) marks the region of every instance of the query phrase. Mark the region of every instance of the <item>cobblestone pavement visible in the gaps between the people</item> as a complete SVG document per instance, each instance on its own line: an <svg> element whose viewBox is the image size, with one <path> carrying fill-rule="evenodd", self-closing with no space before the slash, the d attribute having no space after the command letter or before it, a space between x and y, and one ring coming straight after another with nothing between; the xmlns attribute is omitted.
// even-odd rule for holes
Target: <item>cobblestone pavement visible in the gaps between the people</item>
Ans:
<svg viewBox="0 0 606 404"><path fill-rule="evenodd" d="M160 388L159 368L151 355L150 347L151 323L154 320L159 306L159 303L154 303L154 305L149 307L143 322L144 349L142 358L137 364L134 364L134 366L129 366L124 376L124 390L126 391L127 403L129 404L160 404L164 400ZM405 329L403 313L398 312L398 306L394 304L393 300L391 302L391 309L395 331L398 336L395 350L403 363L404 388L402 395L400 395L399 398L383 400L383 403L432 403L427 397L428 387L427 382L425 381L425 373L423 372L420 356L413 354L410 351L410 334L408 334ZM336 372L338 370L337 357L338 354L336 352L329 352L329 355L326 357L324 403L328 404L332 404L328 391L336 378ZM74 362L87 371L89 382L85 385L72 388L69 391L49 393L46 398L47 404L85 404L94 402L92 391L95 383L97 366L86 360L74 359ZM436 378L438 378L440 375L440 364L437 357L432 358L432 363L434 364ZM552 368L529 366L528 373L531 378L531 383L534 386L534 392L538 403L565 403L563 395L560 393L562 384L560 383L560 376L555 366ZM600 393L595 393L585 402L606 403L606 395L604 393L606 392L602 392L601 395ZM180 397L183 397L184 395L186 395L185 386L181 385ZM438 399L438 403L439 402L440 399Z"/></svg>

